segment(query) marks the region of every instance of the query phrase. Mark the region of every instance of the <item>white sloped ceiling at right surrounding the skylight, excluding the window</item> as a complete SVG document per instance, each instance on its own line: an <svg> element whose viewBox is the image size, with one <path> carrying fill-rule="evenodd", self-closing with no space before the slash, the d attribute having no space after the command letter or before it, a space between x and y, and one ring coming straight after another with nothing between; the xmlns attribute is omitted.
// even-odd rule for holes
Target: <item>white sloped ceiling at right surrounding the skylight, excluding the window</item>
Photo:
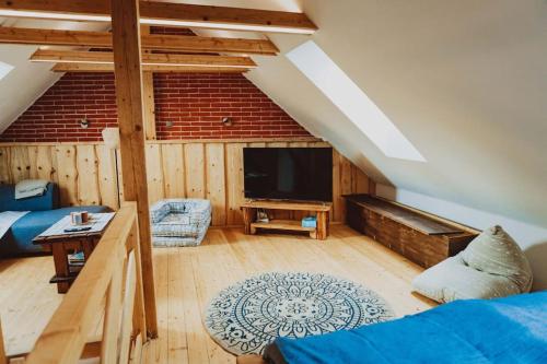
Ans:
<svg viewBox="0 0 547 364"><path fill-rule="evenodd" d="M428 160L384 156L286 57L248 78L380 183L547 227L547 1L305 0L311 38ZM310 39L275 35L282 52Z"/></svg>

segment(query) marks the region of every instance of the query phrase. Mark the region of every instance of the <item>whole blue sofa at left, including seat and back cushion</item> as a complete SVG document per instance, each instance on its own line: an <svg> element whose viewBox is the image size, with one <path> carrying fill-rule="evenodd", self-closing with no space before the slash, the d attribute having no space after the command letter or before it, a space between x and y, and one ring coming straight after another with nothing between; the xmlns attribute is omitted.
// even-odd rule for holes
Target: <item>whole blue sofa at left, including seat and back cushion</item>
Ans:
<svg viewBox="0 0 547 364"><path fill-rule="evenodd" d="M32 243L33 238L72 211L112 211L103 206L59 208L59 188L53 183L47 185L43 196L15 200L14 195L14 185L0 186L0 212L31 212L19 219L0 239L0 258L45 253L42 246Z"/></svg>

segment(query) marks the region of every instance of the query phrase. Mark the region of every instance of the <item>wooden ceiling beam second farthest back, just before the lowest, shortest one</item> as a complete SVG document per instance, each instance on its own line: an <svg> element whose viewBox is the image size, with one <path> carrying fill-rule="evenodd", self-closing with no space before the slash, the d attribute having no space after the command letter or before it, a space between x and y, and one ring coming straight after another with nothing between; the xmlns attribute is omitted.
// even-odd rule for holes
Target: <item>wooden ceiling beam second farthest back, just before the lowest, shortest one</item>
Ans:
<svg viewBox="0 0 547 364"><path fill-rule="evenodd" d="M38 49L31 56L32 61L60 63L114 63L112 51L80 51ZM207 56L207 55L171 55L148 54L141 56L143 66L187 66L218 68L255 68L256 63L248 57Z"/></svg>

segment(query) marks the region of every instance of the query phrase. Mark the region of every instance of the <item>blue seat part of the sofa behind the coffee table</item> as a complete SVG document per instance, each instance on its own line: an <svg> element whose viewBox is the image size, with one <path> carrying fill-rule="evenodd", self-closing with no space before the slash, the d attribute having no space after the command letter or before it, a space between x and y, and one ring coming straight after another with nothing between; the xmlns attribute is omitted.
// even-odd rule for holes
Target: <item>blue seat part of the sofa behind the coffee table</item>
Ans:
<svg viewBox="0 0 547 364"><path fill-rule="evenodd" d="M42 246L33 244L32 240L72 211L98 213L112 210L103 206L86 206L30 212L19 219L0 240L0 257L44 253Z"/></svg>

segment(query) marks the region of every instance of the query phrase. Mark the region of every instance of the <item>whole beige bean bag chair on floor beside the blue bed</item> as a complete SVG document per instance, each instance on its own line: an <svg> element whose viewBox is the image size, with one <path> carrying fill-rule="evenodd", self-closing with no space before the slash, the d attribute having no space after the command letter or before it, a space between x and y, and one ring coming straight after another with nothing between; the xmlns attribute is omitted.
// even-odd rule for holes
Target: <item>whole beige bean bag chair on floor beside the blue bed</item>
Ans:
<svg viewBox="0 0 547 364"><path fill-rule="evenodd" d="M532 270L500 226L482 232L457 256L423 271L414 289L437 302L492 298L528 292Z"/></svg>

